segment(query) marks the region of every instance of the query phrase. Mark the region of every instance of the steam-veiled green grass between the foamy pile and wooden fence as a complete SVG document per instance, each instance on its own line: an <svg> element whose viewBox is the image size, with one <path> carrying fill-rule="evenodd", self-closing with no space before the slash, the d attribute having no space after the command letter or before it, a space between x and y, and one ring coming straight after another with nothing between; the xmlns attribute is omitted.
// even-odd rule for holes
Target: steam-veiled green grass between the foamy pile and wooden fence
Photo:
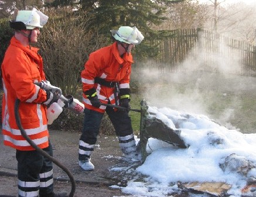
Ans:
<svg viewBox="0 0 256 197"><path fill-rule="evenodd" d="M155 85L152 85L153 87ZM163 104L165 101L175 98L176 95L179 95L179 98L182 99L187 98L189 102L192 95L196 94L197 98L192 100L192 102L200 103L200 107L204 108L203 115L219 122L220 125L226 126L228 129L236 129L242 133L256 133L256 96L253 92L223 92L220 89L193 89L191 87L189 91L185 91L184 84L161 84L159 87L162 92L166 92L166 89L168 89L170 93L170 95L164 93L158 94L162 98L162 100L159 99L159 104L162 104L162 106L165 106ZM131 108L140 109L141 99L145 95L132 94L131 96ZM166 100L164 101L163 99ZM166 105L166 107L176 110L172 106L169 107ZM174 104L173 107L175 107ZM190 112L196 113L193 111ZM132 119L134 132L138 134L141 119L140 114L129 112L129 115Z"/></svg>

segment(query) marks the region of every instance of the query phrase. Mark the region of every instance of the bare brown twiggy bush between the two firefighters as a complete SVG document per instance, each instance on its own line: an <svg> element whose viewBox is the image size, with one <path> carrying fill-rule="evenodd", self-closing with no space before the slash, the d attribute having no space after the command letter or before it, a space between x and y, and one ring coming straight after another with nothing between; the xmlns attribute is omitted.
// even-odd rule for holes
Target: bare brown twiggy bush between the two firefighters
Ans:
<svg viewBox="0 0 256 197"><path fill-rule="evenodd" d="M47 13L49 20L42 28L37 46L44 61L46 78L62 89L63 94L76 95L81 87L81 71L89 54L105 46L105 38L97 30L87 30L90 18L84 13L63 11Z"/></svg>

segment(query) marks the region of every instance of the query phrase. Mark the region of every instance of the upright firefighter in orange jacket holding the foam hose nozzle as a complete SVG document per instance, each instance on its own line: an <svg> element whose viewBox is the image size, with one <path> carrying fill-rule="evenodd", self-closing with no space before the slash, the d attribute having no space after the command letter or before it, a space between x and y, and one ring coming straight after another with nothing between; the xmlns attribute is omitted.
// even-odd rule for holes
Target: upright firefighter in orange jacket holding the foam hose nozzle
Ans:
<svg viewBox="0 0 256 197"><path fill-rule="evenodd" d="M15 36L6 50L2 63L4 96L2 101L2 134L4 144L16 149L18 161L18 196L52 197L53 164L30 146L15 121L15 101L19 99L19 115L23 129L38 147L52 155L47 129L46 108L56 102L53 92L44 91L35 82L45 80L39 49L30 46L37 42L39 28L48 16L33 8L17 11L9 24Z"/></svg>

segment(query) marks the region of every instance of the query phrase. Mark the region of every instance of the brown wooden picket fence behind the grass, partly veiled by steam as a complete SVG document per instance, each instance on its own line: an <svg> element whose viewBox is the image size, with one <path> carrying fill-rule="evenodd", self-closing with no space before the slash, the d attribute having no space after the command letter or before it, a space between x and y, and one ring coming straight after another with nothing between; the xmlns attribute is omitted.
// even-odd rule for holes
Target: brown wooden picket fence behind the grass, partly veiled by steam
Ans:
<svg viewBox="0 0 256 197"><path fill-rule="evenodd" d="M159 43L159 50L162 72L191 64L194 69L256 76L256 46L207 30L175 30Z"/></svg>

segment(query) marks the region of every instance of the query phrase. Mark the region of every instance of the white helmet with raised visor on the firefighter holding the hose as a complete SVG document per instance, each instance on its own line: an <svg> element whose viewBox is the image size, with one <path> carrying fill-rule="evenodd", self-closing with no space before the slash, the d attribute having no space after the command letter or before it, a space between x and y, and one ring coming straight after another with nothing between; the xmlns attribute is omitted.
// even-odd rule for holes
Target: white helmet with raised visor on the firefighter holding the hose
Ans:
<svg viewBox="0 0 256 197"><path fill-rule="evenodd" d="M13 29L18 30L21 30L20 26L18 26L21 23L25 25L26 29L42 28L47 23L48 18L48 16L33 8L32 11L18 11L16 18L10 22L10 25L12 25Z"/></svg>

